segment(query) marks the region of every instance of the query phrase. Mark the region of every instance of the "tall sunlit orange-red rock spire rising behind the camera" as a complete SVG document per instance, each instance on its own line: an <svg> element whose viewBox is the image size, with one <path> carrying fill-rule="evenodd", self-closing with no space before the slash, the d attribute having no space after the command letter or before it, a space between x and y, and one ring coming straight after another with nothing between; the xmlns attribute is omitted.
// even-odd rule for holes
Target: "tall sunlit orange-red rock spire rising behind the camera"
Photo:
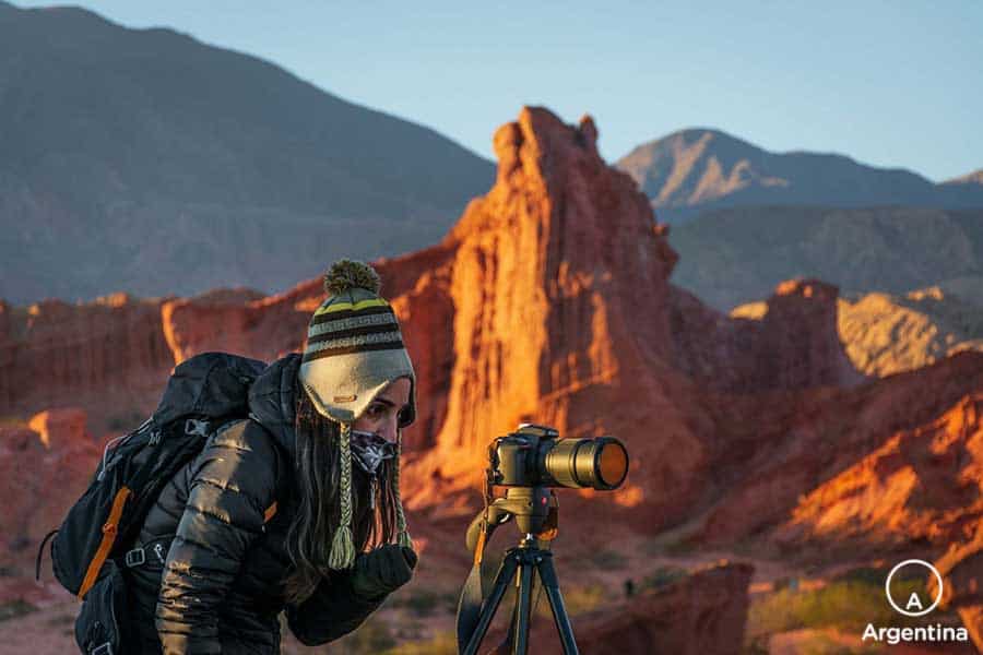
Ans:
<svg viewBox="0 0 983 655"><path fill-rule="evenodd" d="M454 249L454 369L435 452L445 476L474 471L484 445L524 419L591 432L609 389L632 380L643 404L652 369L665 368L675 253L595 135L589 118L570 128L523 109L495 134L495 187L445 239Z"/></svg>

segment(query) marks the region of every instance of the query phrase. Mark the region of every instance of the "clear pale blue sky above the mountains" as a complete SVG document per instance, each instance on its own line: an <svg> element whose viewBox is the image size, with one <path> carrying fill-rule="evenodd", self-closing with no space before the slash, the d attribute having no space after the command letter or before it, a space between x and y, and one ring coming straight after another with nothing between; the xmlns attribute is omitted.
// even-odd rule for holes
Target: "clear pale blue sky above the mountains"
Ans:
<svg viewBox="0 0 983 655"><path fill-rule="evenodd" d="M545 105L593 115L608 160L713 127L935 181L983 168L983 2L81 5L269 59L488 158L499 124Z"/></svg>

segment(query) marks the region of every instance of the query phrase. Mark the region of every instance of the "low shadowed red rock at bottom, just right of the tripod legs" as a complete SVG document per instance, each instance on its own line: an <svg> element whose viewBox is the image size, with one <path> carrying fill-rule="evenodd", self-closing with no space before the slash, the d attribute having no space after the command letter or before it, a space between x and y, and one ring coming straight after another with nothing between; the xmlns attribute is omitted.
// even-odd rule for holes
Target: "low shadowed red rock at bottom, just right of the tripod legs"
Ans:
<svg viewBox="0 0 983 655"><path fill-rule="evenodd" d="M707 568L663 588L633 596L571 620L581 653L591 655L729 655L742 652L747 620L747 585L754 569L748 564ZM561 590L562 591L562 590ZM545 605L546 599L542 600ZM499 607L498 612L510 608ZM505 631L483 641L486 653L496 651ZM535 617L530 652L560 653L556 627Z"/></svg>

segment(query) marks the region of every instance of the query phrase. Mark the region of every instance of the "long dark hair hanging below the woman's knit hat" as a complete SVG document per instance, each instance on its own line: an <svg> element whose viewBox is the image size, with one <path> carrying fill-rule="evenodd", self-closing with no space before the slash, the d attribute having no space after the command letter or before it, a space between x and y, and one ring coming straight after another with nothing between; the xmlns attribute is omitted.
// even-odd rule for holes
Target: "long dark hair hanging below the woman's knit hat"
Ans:
<svg viewBox="0 0 983 655"><path fill-rule="evenodd" d="M286 551L294 571L284 583L287 603L300 604L322 579L330 584L331 544L341 515L339 478L341 425L321 416L299 383L296 384L296 460L293 485L296 511L286 533ZM396 528L396 500L392 480L395 460L386 460L377 474L376 510L370 507L369 476L352 464L352 534L356 552L391 543Z"/></svg>

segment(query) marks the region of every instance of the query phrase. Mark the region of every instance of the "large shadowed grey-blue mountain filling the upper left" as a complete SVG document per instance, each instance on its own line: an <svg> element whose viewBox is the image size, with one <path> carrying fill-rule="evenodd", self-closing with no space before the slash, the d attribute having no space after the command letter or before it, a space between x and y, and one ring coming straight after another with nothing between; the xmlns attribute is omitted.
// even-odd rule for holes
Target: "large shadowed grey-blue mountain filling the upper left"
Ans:
<svg viewBox="0 0 983 655"><path fill-rule="evenodd" d="M339 62L350 66L351 62ZM0 2L0 297L273 291L436 242L490 163L170 29Z"/></svg>

